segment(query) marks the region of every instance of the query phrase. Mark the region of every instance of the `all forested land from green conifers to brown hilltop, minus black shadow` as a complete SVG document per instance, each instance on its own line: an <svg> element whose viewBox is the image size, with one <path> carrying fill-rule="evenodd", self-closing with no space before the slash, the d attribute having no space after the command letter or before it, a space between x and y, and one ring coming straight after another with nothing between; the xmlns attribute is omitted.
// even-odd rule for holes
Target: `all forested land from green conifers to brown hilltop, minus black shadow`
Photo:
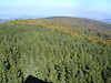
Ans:
<svg viewBox="0 0 111 83"><path fill-rule="evenodd" d="M69 17L0 23L0 83L111 82L111 24Z"/></svg>

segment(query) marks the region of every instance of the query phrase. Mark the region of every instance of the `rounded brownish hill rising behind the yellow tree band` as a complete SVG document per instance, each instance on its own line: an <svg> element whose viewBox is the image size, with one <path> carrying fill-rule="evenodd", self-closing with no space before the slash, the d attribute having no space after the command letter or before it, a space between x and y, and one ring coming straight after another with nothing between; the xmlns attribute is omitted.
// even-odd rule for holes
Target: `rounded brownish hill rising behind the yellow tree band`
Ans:
<svg viewBox="0 0 111 83"><path fill-rule="evenodd" d="M90 20L85 18L72 17L51 17L48 19L58 23L59 25L70 28L72 31L75 31L77 33L98 37L102 37L101 34L103 34L104 37L111 35L111 24L109 23Z"/></svg>

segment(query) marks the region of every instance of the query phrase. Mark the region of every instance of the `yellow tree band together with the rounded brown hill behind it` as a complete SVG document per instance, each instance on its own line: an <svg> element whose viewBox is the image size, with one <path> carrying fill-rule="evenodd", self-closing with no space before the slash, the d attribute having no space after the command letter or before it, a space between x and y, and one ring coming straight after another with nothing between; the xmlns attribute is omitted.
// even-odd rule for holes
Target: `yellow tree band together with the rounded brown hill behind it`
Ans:
<svg viewBox="0 0 111 83"><path fill-rule="evenodd" d="M87 37L99 37L101 39L111 39L111 24L94 21L84 18L72 17L51 17L44 19L21 19L18 21L11 21L7 23L27 24L27 25L41 25L63 28L78 34L84 34Z"/></svg>

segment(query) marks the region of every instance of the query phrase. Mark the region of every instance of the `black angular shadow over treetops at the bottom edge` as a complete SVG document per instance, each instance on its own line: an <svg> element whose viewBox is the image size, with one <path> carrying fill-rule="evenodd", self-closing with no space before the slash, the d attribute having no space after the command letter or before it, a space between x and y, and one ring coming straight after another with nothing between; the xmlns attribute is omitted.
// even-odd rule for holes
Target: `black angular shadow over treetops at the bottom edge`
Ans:
<svg viewBox="0 0 111 83"><path fill-rule="evenodd" d="M29 75L23 83L52 83L52 82L46 82L46 81L39 80L38 77Z"/></svg>

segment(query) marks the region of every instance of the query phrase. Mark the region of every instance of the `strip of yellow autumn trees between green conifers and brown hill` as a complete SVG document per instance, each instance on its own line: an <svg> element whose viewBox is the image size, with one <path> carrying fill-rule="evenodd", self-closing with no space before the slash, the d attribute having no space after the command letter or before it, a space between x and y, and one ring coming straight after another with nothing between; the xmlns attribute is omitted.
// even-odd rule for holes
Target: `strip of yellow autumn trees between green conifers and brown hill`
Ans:
<svg viewBox="0 0 111 83"><path fill-rule="evenodd" d="M73 28L74 31L72 31L70 28L67 28L65 25L59 25L59 22L56 22L53 20L47 20L47 19L28 19L28 20L18 20L18 21L9 21L6 23L0 23L0 25L3 24L17 24L17 25L34 25L34 27L41 27L47 28L50 30L57 30L60 32L64 32L70 34L73 38L91 40L92 42L102 42L104 44L111 44L111 40L102 40L98 37L88 37L84 34L78 34L75 31L85 31L88 28Z"/></svg>

